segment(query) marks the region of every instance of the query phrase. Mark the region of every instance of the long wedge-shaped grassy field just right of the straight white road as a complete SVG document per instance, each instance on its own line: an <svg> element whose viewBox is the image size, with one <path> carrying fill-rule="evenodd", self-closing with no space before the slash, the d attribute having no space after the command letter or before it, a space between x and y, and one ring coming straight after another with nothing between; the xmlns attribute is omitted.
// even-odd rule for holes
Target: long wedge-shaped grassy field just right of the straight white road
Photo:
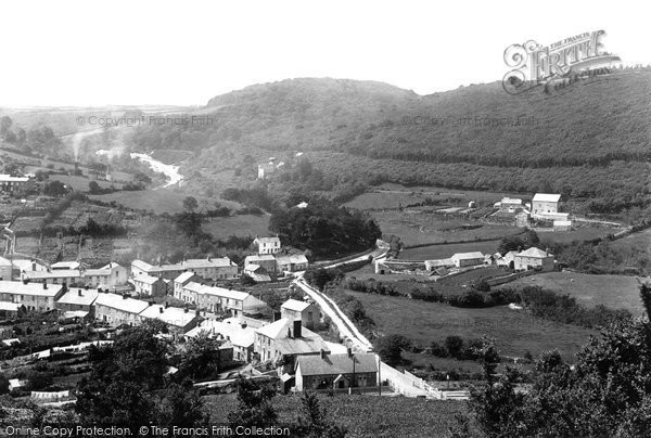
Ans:
<svg viewBox="0 0 651 438"><path fill-rule="evenodd" d="M487 309L462 309L438 302L401 297L347 292L358 298L367 314L385 334L401 334L422 346L443 342L448 335L496 338L501 355L522 357L525 351L537 356L558 348L567 360L595 331L534 318L507 306Z"/></svg>

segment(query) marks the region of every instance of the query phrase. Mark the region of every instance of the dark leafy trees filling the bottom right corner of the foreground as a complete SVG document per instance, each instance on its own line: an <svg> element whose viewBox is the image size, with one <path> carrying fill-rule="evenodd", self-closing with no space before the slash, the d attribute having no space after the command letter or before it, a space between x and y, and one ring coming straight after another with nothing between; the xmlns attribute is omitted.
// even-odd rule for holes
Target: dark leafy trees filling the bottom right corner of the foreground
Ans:
<svg viewBox="0 0 651 438"><path fill-rule="evenodd" d="M651 287L642 285L640 295L648 315ZM486 385L472 391L470 407L486 436L638 437L651 430L648 318L615 320L590 338L574 365L558 351L541 355L527 394L515 391L514 370L499 377L485 370Z"/></svg>

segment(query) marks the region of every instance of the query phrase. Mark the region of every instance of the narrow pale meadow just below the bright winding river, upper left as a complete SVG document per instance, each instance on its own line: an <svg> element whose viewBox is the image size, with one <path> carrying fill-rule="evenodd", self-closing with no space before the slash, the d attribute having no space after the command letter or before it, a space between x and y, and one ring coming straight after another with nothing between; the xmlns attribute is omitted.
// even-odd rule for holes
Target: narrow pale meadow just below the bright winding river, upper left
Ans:
<svg viewBox="0 0 651 438"><path fill-rule="evenodd" d="M141 190L135 192L115 192L105 195L91 195L90 198L99 199L105 203L115 201L118 204L124 205L127 208L152 210L156 214L162 212L180 212L183 209L183 199L190 196L189 193L175 191L173 189L156 189L156 190ZM214 208L215 202L228 207L228 208L240 208L241 206L237 203L229 201L208 198L202 196L194 196L199 201L200 208L205 205L208 208Z"/></svg>

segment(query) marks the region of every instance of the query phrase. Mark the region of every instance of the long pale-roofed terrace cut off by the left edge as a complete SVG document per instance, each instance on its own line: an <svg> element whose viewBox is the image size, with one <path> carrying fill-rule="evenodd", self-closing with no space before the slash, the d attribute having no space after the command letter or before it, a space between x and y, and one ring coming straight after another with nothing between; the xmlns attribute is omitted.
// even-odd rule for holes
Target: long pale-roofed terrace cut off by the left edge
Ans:
<svg viewBox="0 0 651 438"><path fill-rule="evenodd" d="M0 281L0 301L18 304L27 310L52 310L64 293L64 286L58 284Z"/></svg>

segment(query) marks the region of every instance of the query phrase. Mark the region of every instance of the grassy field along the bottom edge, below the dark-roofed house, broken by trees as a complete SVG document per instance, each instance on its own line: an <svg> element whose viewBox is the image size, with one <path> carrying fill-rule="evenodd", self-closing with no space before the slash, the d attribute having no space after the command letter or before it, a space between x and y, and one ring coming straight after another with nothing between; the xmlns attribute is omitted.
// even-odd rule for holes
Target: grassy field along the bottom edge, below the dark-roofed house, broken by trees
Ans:
<svg viewBox="0 0 651 438"><path fill-rule="evenodd" d="M467 414L464 401L438 401L405 397L319 396L329 417L347 428L347 437L449 437L456 414ZM204 397L210 423L227 423L237 409L234 395ZM301 410L298 396L276 396L272 400L279 423L294 423Z"/></svg>

